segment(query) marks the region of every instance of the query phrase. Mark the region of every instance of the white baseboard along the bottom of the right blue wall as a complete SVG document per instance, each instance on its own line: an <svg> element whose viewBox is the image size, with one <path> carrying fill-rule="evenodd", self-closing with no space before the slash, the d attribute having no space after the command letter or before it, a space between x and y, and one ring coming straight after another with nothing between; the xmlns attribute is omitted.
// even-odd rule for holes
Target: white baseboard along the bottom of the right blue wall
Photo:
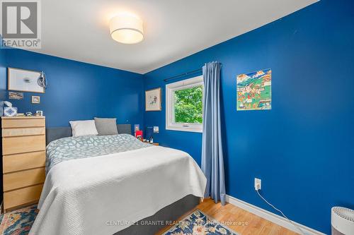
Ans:
<svg viewBox="0 0 354 235"><path fill-rule="evenodd" d="M273 212L269 212L268 210L264 210L260 207L256 207L256 205L246 203L243 200L239 200L239 199L234 198L230 195L226 195L226 201L227 201L227 203L230 203L232 205L236 205L236 207L240 207L248 212L251 212L254 215L258 215L259 217L262 217L263 219L267 219L270 222L273 222L274 224L278 224L282 227L285 227L291 231L295 231L296 233L299 234L299 229L295 228L294 225L292 225L290 222L287 221L287 219L285 219L279 215L276 215ZM299 224L297 222L293 222L293 223L296 224L300 229L302 229L302 231L305 234L326 235L324 233L321 233L320 231L316 231L314 229L306 227L306 226Z"/></svg>

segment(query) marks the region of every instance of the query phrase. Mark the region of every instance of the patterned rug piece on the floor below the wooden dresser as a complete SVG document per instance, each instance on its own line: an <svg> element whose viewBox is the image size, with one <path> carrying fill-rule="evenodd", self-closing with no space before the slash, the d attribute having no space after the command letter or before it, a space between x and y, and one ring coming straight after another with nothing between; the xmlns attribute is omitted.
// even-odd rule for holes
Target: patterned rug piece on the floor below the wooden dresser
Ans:
<svg viewBox="0 0 354 235"><path fill-rule="evenodd" d="M38 214L37 205L30 205L0 216L0 235L26 235Z"/></svg>

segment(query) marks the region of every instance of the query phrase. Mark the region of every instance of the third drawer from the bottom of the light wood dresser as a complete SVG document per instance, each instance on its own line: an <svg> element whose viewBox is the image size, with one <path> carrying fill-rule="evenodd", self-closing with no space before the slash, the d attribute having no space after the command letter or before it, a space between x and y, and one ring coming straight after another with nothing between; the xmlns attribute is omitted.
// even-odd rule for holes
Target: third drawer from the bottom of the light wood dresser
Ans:
<svg viewBox="0 0 354 235"><path fill-rule="evenodd" d="M21 171L45 166L45 151L4 155L2 158L4 173Z"/></svg>

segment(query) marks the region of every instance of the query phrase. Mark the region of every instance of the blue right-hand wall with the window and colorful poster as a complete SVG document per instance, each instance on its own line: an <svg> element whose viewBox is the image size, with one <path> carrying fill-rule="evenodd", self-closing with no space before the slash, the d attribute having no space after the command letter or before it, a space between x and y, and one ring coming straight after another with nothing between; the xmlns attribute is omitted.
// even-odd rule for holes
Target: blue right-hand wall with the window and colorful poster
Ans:
<svg viewBox="0 0 354 235"><path fill-rule="evenodd" d="M161 87L155 141L185 150L200 163L202 135L165 130L164 78L222 62L222 122L227 194L330 233L331 207L354 209L354 14L352 1L319 1L285 18L147 73ZM270 111L236 112L236 75L272 68ZM196 74L198 75L198 74Z"/></svg>

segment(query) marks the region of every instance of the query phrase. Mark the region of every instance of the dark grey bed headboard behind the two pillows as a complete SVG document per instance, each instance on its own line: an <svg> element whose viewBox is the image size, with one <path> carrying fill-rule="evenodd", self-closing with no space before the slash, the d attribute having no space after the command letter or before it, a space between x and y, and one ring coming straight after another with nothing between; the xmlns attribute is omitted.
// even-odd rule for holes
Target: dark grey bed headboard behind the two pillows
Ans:
<svg viewBox="0 0 354 235"><path fill-rule="evenodd" d="M117 124L117 128L120 134L132 134L132 126L130 124ZM72 136L72 128L70 126L50 127L45 129L46 144L49 144L50 141L70 136Z"/></svg>

